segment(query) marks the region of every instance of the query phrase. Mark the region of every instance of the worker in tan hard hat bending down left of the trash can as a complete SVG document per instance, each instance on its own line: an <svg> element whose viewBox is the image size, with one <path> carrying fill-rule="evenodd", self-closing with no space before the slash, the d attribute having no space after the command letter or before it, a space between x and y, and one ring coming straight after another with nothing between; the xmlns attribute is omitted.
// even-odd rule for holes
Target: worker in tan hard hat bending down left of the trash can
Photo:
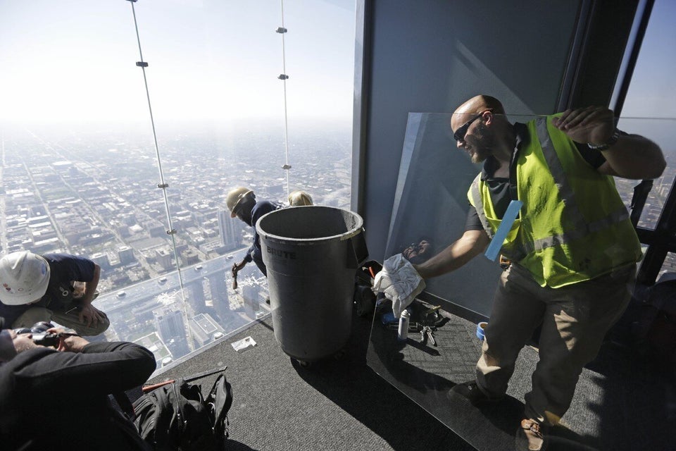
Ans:
<svg viewBox="0 0 676 451"><path fill-rule="evenodd" d="M256 202L256 194L247 187L236 187L227 193L225 204L230 210L230 217L237 217L241 219L247 226L253 228L253 245L249 247L244 259L239 263L232 265L232 277L237 280L237 272L239 272L247 263L253 261L258 266L261 273L265 277L268 276L268 271L263 263L263 254L261 253L261 240L256 232L256 221L261 216L282 208L282 204L278 202L270 202L262 200Z"/></svg>

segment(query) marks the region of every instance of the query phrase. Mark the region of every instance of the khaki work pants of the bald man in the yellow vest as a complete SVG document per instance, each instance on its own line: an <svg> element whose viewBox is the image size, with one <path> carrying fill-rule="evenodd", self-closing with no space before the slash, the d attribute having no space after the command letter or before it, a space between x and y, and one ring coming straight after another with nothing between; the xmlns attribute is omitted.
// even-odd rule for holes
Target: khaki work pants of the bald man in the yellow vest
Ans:
<svg viewBox="0 0 676 451"><path fill-rule="evenodd" d="M525 416L556 424L570 407L582 367L599 352L603 337L629 304L636 265L562 288L541 287L518 265L503 272L482 355L477 384L488 395L506 393L521 348L542 323L539 362Z"/></svg>

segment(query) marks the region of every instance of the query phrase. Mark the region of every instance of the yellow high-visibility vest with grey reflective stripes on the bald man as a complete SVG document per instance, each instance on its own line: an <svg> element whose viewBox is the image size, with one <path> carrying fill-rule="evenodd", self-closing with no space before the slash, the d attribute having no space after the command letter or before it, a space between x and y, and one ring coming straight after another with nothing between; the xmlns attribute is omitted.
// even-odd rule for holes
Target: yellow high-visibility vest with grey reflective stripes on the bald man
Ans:
<svg viewBox="0 0 676 451"><path fill-rule="evenodd" d="M636 263L641 245L613 177L589 166L552 117L527 123L530 140L513 167L523 206L501 252L543 287L559 288ZM501 220L481 175L468 199L493 237Z"/></svg>

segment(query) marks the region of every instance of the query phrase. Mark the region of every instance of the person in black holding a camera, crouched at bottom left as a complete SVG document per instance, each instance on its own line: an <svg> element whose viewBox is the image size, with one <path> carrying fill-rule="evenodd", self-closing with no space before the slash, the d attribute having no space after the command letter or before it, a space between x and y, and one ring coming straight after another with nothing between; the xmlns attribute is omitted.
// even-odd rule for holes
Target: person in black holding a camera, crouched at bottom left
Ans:
<svg viewBox="0 0 676 451"><path fill-rule="evenodd" d="M142 385L155 369L154 355L130 342L45 332L54 347L39 345L37 334L0 331L0 447L149 450L108 395Z"/></svg>

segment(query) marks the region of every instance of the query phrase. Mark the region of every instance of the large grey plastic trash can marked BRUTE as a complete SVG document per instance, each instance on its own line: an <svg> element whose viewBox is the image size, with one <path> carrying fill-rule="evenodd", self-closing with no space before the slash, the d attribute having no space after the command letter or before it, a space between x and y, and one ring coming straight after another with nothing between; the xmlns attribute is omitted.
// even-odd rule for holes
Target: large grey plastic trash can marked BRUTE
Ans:
<svg viewBox="0 0 676 451"><path fill-rule="evenodd" d="M356 268L368 257L361 216L296 206L261 217L256 231L282 350L300 362L340 352L351 332Z"/></svg>

